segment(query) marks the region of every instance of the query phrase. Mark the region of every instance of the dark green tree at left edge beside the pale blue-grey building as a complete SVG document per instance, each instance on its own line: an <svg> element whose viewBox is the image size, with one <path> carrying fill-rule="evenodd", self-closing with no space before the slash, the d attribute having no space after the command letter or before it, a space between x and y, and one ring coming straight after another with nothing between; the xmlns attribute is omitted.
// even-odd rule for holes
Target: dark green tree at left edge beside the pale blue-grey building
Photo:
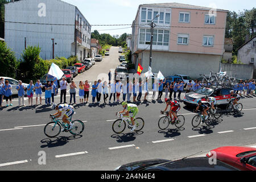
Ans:
<svg viewBox="0 0 256 182"><path fill-rule="evenodd" d="M0 73L2 76L16 78L17 61L14 52L0 42Z"/></svg>

